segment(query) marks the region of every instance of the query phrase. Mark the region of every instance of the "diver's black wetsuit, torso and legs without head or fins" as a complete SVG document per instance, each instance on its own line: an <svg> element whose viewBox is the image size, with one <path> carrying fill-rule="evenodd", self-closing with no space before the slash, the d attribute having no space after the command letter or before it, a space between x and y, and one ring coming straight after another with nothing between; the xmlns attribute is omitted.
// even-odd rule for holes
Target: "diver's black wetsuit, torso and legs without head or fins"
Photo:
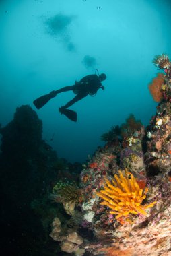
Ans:
<svg viewBox="0 0 171 256"><path fill-rule="evenodd" d="M75 85L65 86L55 92L59 94L60 92L67 92L72 90L75 94L77 94L73 98L73 100L70 100L67 104L65 104L65 106L61 107L61 108L68 108L69 106L73 105L75 102L88 96L88 94L90 95L96 94L99 88L104 89L98 75L87 75L86 77L83 77L79 82L75 82Z"/></svg>

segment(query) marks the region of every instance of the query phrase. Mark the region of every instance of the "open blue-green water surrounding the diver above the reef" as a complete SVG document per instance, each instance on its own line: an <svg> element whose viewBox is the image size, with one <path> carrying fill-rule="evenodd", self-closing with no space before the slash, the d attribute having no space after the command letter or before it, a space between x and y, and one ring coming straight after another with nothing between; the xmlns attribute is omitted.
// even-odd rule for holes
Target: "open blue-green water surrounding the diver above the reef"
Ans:
<svg viewBox="0 0 171 256"><path fill-rule="evenodd" d="M149 123L156 103L148 83L152 60L171 57L171 3L164 0L4 0L0 2L0 123L18 106L75 80L106 73L99 90L71 106L77 123L58 108L75 94L65 92L36 110L43 138L59 157L85 161L110 127L130 113Z"/></svg>

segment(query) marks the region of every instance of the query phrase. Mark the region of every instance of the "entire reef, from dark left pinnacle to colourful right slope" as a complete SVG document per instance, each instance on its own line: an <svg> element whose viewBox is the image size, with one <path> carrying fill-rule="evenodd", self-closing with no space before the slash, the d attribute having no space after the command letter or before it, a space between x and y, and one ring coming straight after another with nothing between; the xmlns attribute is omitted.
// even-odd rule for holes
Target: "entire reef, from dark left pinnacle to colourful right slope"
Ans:
<svg viewBox="0 0 171 256"><path fill-rule="evenodd" d="M24 243L50 256L171 255L171 65L164 54L153 63L163 72L149 86L156 115L146 128L129 115L81 166L57 158L29 106L0 127L2 239L15 243L18 255L28 255ZM13 230L31 242L20 235L13 241ZM42 241L53 249L42 251Z"/></svg>

